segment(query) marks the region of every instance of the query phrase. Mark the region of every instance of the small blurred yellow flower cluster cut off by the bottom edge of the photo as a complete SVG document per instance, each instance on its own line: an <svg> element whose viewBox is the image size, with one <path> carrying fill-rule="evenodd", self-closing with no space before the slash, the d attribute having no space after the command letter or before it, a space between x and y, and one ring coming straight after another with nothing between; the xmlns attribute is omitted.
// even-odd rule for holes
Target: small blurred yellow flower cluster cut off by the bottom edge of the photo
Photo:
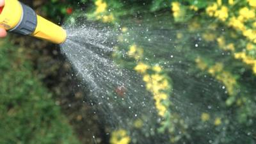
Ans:
<svg viewBox="0 0 256 144"><path fill-rule="evenodd" d="M131 138L124 129L113 131L110 138L111 144L128 144Z"/></svg>

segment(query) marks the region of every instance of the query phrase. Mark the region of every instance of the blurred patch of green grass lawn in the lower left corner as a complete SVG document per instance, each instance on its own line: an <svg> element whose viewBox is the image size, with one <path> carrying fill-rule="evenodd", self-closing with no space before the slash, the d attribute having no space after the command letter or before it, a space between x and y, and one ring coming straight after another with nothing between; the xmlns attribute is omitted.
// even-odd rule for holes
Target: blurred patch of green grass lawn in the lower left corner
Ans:
<svg viewBox="0 0 256 144"><path fill-rule="evenodd" d="M0 143L79 143L24 51L1 41Z"/></svg>

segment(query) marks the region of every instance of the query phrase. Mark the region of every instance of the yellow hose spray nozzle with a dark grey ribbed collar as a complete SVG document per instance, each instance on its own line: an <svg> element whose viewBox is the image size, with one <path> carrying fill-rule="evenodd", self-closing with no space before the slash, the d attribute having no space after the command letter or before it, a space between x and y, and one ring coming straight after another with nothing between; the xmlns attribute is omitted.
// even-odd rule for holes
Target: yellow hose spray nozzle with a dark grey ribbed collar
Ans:
<svg viewBox="0 0 256 144"><path fill-rule="evenodd" d="M48 40L54 44L62 44L67 38L65 29L36 15L29 6L17 0L6 0L0 8L0 27L13 33Z"/></svg>

